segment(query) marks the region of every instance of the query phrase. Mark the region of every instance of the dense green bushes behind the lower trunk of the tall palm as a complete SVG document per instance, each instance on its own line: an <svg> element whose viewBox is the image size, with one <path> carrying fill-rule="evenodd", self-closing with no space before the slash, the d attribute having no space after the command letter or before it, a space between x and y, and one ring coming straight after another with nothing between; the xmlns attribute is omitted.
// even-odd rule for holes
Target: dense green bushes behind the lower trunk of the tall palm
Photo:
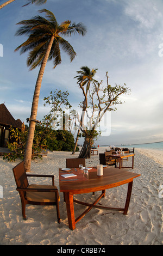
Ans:
<svg viewBox="0 0 163 256"><path fill-rule="evenodd" d="M9 161L15 161L17 158L24 158L24 150L26 147L27 133L19 131L17 128L11 127L11 142L8 143L8 149L10 153L5 154L3 159ZM37 157L41 158L42 146L46 145L48 150L55 151L72 151L74 148L73 135L68 131L55 131L51 128L36 125L33 148L32 148L32 159ZM76 151L78 151L77 148Z"/></svg>

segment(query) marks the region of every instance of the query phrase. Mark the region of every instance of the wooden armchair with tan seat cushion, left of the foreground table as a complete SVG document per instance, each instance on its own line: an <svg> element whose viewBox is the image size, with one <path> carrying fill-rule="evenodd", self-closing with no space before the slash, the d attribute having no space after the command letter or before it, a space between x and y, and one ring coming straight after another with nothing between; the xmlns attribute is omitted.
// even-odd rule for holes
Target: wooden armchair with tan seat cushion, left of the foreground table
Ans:
<svg viewBox="0 0 163 256"><path fill-rule="evenodd" d="M17 185L16 190L19 192L21 198L23 219L26 220L26 204L56 205L58 223L60 223L60 198L58 189L54 186L54 175L26 174L23 161L18 163L12 170ZM52 185L29 185L27 176L50 177L52 178Z"/></svg>

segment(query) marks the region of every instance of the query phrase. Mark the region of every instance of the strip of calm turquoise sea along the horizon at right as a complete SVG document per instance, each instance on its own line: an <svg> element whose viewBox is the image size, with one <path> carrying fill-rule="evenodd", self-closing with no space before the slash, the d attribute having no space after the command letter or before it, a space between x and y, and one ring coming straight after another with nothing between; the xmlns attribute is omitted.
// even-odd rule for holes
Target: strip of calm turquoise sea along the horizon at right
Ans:
<svg viewBox="0 0 163 256"><path fill-rule="evenodd" d="M146 143L146 144L132 144L132 145L116 145L116 147L120 148L140 148L140 149L157 149L163 150L163 142L156 143Z"/></svg>

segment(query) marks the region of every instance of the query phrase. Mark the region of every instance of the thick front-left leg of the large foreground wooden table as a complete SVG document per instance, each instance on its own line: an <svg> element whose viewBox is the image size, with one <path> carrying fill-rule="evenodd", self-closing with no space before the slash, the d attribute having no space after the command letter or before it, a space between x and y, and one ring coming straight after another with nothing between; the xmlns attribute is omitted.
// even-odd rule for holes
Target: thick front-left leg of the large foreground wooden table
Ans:
<svg viewBox="0 0 163 256"><path fill-rule="evenodd" d="M74 230L76 228L76 222L74 218L73 194L65 192L65 199L66 199L68 225L70 229Z"/></svg>

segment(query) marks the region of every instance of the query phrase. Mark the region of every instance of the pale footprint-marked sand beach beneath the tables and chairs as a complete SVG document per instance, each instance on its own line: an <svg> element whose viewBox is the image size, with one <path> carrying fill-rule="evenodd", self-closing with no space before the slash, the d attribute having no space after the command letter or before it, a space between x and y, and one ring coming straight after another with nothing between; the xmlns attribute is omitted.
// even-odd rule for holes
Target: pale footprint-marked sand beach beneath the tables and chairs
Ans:
<svg viewBox="0 0 163 256"><path fill-rule="evenodd" d="M106 147L100 147L104 153ZM100 152L99 151L99 152ZM53 174L59 190L58 169L66 167L65 159L77 157L78 153L53 151L42 160L32 161L31 172ZM12 168L20 160L8 162L0 157L0 185L3 198L0 199L0 245L162 245L163 244L163 151L135 150L134 169L140 173L134 179L133 191L127 215L122 212L93 208L76 224L73 231L68 228L66 204L60 193L60 217L57 222L54 206L27 205L27 220L22 219L21 200L16 191ZM91 156L86 166L96 166L99 156ZM125 162L130 164L130 159ZM49 184L51 180L32 178L31 182ZM163 186L162 186L163 187ZM163 188L162 188L163 189ZM95 196L100 192L96 192ZM127 184L106 190L100 203L111 207L123 207ZM76 195L75 198L92 202L92 193ZM75 215L83 212L85 206L74 204Z"/></svg>

